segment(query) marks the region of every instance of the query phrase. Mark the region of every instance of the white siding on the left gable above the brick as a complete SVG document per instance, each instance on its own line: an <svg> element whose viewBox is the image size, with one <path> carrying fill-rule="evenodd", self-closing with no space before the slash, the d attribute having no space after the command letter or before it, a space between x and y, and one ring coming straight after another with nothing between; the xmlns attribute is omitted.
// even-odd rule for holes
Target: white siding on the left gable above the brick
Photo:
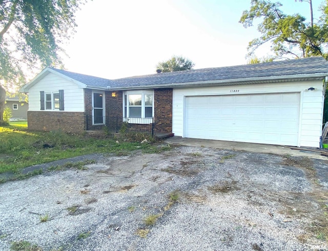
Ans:
<svg viewBox="0 0 328 251"><path fill-rule="evenodd" d="M49 73L29 89L29 111L40 110L40 91L58 90L64 90L64 111L84 111L83 89L54 73Z"/></svg>

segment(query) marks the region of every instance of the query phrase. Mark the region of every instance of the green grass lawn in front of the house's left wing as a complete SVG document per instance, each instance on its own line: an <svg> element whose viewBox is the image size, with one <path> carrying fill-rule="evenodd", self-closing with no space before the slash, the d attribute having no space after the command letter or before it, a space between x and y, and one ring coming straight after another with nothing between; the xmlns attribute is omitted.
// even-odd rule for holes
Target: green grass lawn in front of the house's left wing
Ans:
<svg viewBox="0 0 328 251"><path fill-rule="evenodd" d="M89 153L128 155L130 151L158 152L156 145L96 139L60 131L31 132L19 125L0 127L0 173Z"/></svg>

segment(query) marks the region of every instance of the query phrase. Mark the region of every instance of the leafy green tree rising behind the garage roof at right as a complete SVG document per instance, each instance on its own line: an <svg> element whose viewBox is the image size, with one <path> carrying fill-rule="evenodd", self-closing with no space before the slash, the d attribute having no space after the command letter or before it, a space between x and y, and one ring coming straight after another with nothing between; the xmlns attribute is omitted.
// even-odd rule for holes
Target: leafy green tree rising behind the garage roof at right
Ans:
<svg viewBox="0 0 328 251"><path fill-rule="evenodd" d="M279 8L280 3L271 3L269 0L252 0L250 10L244 10L239 23L245 28L253 25L255 19L260 19L257 29L262 34L249 43L249 56L265 43L271 43L276 58L284 56L308 57L321 55L328 59L326 47L328 45L328 8L327 0L322 5L317 23L313 23L311 0L299 0L310 4L311 22L306 23L300 14L287 15Z"/></svg>

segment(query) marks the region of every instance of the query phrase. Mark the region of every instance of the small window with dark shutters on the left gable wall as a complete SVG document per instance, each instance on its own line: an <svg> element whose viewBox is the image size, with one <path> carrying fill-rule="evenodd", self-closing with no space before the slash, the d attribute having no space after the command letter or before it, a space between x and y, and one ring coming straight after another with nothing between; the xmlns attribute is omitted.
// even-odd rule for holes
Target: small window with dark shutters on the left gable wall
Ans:
<svg viewBox="0 0 328 251"><path fill-rule="evenodd" d="M40 91L41 110L64 110L64 90L54 92Z"/></svg>

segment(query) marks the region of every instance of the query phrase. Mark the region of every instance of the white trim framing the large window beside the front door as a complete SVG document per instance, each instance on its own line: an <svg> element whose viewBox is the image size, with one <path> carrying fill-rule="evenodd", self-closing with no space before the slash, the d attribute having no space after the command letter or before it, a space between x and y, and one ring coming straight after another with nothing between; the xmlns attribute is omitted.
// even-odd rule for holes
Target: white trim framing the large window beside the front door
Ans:
<svg viewBox="0 0 328 251"><path fill-rule="evenodd" d="M125 96L127 96L127 103L129 103L129 95L136 95L141 94L141 122L140 118L129 118L129 104L125 104ZM152 94L153 95L153 104L152 104L152 118L145 118L145 94ZM132 124L150 124L153 122L154 117L154 90L133 90L133 91L125 91L123 92L123 119L125 122L132 123ZM125 107L127 107L127 114L125 114Z"/></svg>

